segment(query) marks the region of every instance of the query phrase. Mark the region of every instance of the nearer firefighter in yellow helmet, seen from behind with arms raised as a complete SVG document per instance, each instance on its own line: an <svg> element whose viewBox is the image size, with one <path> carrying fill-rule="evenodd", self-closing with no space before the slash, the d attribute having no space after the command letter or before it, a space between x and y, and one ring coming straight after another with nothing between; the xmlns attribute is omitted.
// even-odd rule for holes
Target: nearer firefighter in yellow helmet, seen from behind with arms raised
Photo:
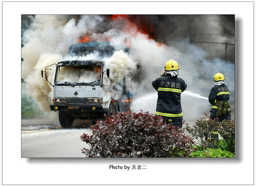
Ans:
<svg viewBox="0 0 256 186"><path fill-rule="evenodd" d="M152 82L158 92L156 115L176 127L182 127L181 93L187 85L179 78L179 65L170 59L165 63L164 73Z"/></svg>

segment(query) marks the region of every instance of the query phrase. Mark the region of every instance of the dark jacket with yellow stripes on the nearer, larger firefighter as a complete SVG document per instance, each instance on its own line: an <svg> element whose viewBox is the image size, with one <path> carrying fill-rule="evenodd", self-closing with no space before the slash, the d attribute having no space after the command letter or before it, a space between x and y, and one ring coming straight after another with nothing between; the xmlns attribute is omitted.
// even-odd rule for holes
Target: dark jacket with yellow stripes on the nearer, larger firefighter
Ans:
<svg viewBox="0 0 256 186"><path fill-rule="evenodd" d="M159 76L152 85L158 92L156 115L164 120L182 121L181 93L187 88L184 80L166 74Z"/></svg>

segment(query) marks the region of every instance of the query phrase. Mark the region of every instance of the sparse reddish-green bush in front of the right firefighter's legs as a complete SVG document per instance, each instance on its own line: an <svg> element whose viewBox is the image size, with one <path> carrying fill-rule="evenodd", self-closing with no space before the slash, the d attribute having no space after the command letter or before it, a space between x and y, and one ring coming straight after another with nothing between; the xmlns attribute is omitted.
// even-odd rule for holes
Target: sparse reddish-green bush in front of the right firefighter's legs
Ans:
<svg viewBox="0 0 256 186"><path fill-rule="evenodd" d="M195 145L199 149L218 148L219 139L211 138L211 131L217 131L217 121L211 119L205 113L204 115L205 117L197 120L193 127L189 127L186 123L186 130L191 134Z"/></svg>

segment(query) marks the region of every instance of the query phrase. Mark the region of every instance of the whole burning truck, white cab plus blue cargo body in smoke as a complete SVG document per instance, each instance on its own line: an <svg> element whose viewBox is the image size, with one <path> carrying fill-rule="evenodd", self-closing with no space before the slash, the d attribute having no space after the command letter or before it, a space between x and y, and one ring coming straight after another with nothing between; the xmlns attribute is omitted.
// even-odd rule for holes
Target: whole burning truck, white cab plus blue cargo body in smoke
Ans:
<svg viewBox="0 0 256 186"><path fill-rule="evenodd" d="M109 38L105 36L88 36L75 40L78 43L72 41L69 50L71 56L82 56L92 52L98 52L101 56L111 56L114 52ZM124 38L125 52L129 52L130 44L131 37ZM54 65L56 71L52 85L48 77ZM125 84L125 78L119 82L119 87L122 88L122 95L126 99L116 100L116 91L104 89L104 74L106 72L105 75L109 78L111 69L105 71L103 69L104 61L69 60L52 64L44 71L41 70L42 77L53 86L53 104L50 108L51 111L58 111L59 123L63 128L71 127L75 119L92 119L95 124L104 114L111 116L130 105L131 93ZM132 81L141 81L140 74L139 71L132 74Z"/></svg>

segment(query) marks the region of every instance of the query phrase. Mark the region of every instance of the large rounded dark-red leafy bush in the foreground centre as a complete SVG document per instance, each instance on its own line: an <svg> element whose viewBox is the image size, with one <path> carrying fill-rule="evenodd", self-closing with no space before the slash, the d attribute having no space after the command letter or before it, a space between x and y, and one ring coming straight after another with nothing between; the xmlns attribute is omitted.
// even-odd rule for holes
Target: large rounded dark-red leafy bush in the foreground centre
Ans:
<svg viewBox="0 0 256 186"><path fill-rule="evenodd" d="M183 129L166 124L161 116L130 110L98 121L81 140L90 145L89 157L187 157L191 139Z"/></svg>

